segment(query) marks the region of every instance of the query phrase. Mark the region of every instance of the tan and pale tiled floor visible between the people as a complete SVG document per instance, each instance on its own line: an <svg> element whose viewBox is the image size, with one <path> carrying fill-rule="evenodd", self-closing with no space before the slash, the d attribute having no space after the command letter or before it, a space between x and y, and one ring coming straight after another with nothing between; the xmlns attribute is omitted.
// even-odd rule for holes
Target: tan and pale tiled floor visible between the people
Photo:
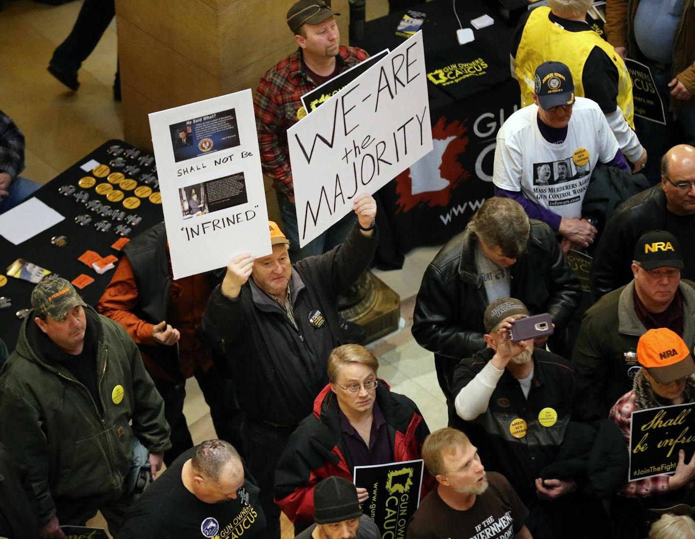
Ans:
<svg viewBox="0 0 695 539"><path fill-rule="evenodd" d="M113 101L117 44L115 23L79 72L79 92L70 92L46 71L56 46L70 33L81 3L46 6L29 0L0 0L0 109L26 136L24 176L42 183L109 138L122 138L121 104ZM386 0L367 2L367 18L387 13ZM275 196L268 192L269 207ZM380 360L379 376L395 392L413 399L431 430L446 424L446 409L434 374L432 354L410 334L414 295L436 248L412 251L404 268L375 273L398 292L405 325L371 345ZM196 442L214 429L195 379L186 385L185 413ZM103 525L99 517L92 524ZM288 522L284 538L292 537Z"/></svg>

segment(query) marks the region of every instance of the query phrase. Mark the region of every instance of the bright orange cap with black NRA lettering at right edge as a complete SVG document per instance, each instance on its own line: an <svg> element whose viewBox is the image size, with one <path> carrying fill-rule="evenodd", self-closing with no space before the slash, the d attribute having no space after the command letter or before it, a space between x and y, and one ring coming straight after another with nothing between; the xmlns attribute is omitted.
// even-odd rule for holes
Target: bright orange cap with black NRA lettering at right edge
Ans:
<svg viewBox="0 0 695 539"><path fill-rule="evenodd" d="M650 329L639 338L637 360L659 383L671 383L695 372L687 345L668 328Z"/></svg>

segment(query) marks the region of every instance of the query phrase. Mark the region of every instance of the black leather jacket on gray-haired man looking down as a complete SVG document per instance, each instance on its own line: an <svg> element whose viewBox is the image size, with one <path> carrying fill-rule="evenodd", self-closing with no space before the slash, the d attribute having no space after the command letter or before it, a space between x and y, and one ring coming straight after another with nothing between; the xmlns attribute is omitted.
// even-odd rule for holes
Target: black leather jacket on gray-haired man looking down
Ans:
<svg viewBox="0 0 695 539"><path fill-rule="evenodd" d="M413 336L434 352L439 385L448 400L454 367L486 346L483 314L489 301L475 265L475 242L477 236L465 230L442 247L425 270L415 304ZM543 222L531 219L526 251L512 266L511 293L530 313L550 313L557 335L579 304L579 279Z"/></svg>

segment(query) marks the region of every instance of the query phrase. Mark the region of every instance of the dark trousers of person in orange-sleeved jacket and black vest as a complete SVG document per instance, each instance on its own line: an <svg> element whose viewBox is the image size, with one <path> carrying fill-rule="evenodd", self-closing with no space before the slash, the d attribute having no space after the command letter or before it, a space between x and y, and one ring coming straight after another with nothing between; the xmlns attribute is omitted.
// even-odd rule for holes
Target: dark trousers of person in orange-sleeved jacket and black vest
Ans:
<svg viewBox="0 0 695 539"><path fill-rule="evenodd" d="M243 456L241 440L243 413L236 401L233 381L221 376L215 365L210 367L208 372L203 372L200 367L196 367L194 376L203 392L206 404L210 406L210 416L218 438L234 445ZM164 463L169 466L183 451L193 447L193 438L190 437L186 416L183 415L186 383L167 382L157 378L153 378L153 381L164 400L164 417L172 430L170 436L172 447L164 451Z"/></svg>

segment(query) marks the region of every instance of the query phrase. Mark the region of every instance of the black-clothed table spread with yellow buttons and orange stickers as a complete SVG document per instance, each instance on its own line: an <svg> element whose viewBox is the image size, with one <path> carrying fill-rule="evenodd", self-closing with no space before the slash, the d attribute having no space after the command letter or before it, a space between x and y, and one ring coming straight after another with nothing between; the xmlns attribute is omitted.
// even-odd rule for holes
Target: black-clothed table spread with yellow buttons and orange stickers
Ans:
<svg viewBox="0 0 695 539"><path fill-rule="evenodd" d="M109 153L109 150L111 150L111 153ZM110 183L108 175L99 177L92 172L81 169L82 165L89 163L91 160L107 165L110 169L109 172L122 172L125 179L132 179L136 185L133 185L133 182L129 182L124 183L123 187L121 187L117 183ZM89 171L92 170L93 165L94 163L89 167ZM79 181L85 176L94 178L95 185L92 185L90 188L81 188ZM90 181L87 181L84 184L88 185L89 183ZM108 201L106 193L98 194L96 189L103 183L109 183L112 190L122 190L123 198L119 201ZM58 190L63 185L74 185L74 193L68 196L60 194ZM145 185L152 190L154 197L152 197L152 194L148 194L145 197L136 196L136 190ZM75 194L80 191L88 194L89 198L87 201L76 201ZM147 189L143 189L137 192L146 194L147 191ZM30 263L49 269L54 274L58 274L68 281L72 281L80 274L85 274L92 277L95 281L85 286L82 290L79 288L76 288L76 290L83 297L85 303L96 306L106 285L111 281L111 276L113 276L115 270L111 269L105 274L99 275L94 269L87 267L77 258L88 250L95 251L104 257L108 255L120 257L121 251L111 247L116 240L121 238L120 235L115 233L116 227L120 224L126 224L131 229L126 237L134 238L140 232L160 222L163 219L163 215L161 203L158 203L158 192L154 157L122 140L109 140L101 144L101 146L84 158L81 158L65 172L58 174L56 178L43 185L33 195L51 208L54 208L60 215L63 215L65 217L63 221L19 245L15 245L0 236L0 274L6 274L8 266L17 258L23 258ZM120 197L120 195L118 196ZM129 197L135 197L140 200L140 205L132 209L124 206L124 201ZM150 200L151 197L152 201ZM103 217L98 212L87 208L85 202L88 203L92 200L98 200L102 204L107 204L111 206L111 210L122 211L123 214L112 215L115 219ZM130 206L131 204L129 203L128 205ZM75 217L78 215L89 215L92 220L89 224L80 226L75 222ZM132 224L127 224L129 215L135 215L136 217L141 217L141 219L137 224L134 224L132 221L133 217L131 217ZM118 217L121 217L121 220L117 220ZM101 220L111 222L111 227L108 231L101 232L95 228L95 224ZM17 226L22 226L22 223L17 223ZM51 238L60 235L64 235L67 238L67 244L64 247L56 247L51 244ZM2 280L0 279L0 281ZM0 286L0 297L10 299L12 303L10 307L0 308L0 338L5 341L10 352L15 349L19 326L22 324L22 320L19 320L16 313L21 309L31 308L31 291L34 286L33 283L10 276L7 277L7 283Z"/></svg>

